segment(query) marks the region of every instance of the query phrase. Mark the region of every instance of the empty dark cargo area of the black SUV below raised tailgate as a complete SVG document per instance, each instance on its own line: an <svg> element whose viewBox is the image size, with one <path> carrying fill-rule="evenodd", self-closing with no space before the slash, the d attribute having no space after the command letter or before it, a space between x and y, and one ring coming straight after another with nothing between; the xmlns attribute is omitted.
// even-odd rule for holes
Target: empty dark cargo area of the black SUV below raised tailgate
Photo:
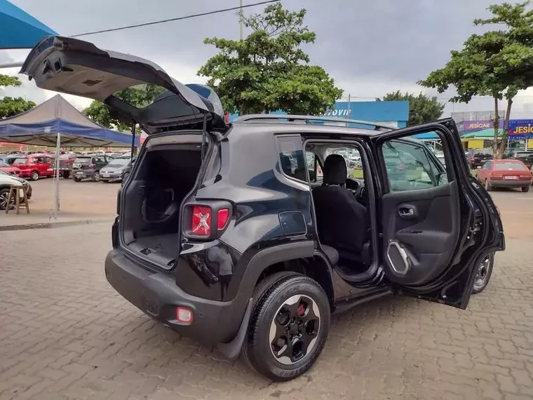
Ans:
<svg viewBox="0 0 533 400"><path fill-rule="evenodd" d="M201 168L201 135L188 136L187 143L154 142L123 189L123 246L161 267L177 257L180 206Z"/></svg>

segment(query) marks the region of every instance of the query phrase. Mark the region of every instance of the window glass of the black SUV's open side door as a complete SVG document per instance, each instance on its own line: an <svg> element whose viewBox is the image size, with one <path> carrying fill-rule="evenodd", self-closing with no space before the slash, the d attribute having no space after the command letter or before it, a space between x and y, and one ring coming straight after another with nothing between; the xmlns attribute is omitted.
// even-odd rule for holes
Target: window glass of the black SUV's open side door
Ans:
<svg viewBox="0 0 533 400"><path fill-rule="evenodd" d="M425 145L410 140L384 142L383 157L392 192L429 189L447 184L447 175L429 157Z"/></svg>

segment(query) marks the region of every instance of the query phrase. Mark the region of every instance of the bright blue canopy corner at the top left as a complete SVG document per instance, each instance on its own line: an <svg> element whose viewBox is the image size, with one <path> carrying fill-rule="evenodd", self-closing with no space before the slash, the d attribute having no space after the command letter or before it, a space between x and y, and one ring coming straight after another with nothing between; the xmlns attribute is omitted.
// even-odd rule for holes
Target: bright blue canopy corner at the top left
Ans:
<svg viewBox="0 0 533 400"><path fill-rule="evenodd" d="M44 36L56 34L7 0L0 0L0 48L32 48Z"/></svg>

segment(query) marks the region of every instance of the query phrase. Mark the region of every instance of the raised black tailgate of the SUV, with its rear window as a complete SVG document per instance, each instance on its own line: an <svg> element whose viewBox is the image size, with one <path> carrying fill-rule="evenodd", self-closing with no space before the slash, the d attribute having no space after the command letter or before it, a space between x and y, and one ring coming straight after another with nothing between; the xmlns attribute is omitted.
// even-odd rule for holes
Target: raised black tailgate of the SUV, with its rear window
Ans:
<svg viewBox="0 0 533 400"><path fill-rule="evenodd" d="M154 62L87 41L48 36L32 49L20 73L39 88L100 100L148 134L190 129L204 121L208 129L226 127L220 99L206 86L180 84ZM143 107L129 104L126 89L147 84L157 96L147 98Z"/></svg>

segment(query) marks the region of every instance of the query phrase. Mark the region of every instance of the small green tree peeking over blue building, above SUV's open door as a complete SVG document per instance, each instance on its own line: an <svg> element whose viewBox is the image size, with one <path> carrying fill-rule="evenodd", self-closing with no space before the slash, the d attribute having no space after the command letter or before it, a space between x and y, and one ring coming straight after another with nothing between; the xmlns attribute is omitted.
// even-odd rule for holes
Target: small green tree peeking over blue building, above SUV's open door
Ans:
<svg viewBox="0 0 533 400"><path fill-rule="evenodd" d="M409 102L409 121L407 126L424 124L435 121L443 115L444 105L438 102L436 97L429 97L419 93L400 93L400 91L387 93L384 101L403 100Z"/></svg>

